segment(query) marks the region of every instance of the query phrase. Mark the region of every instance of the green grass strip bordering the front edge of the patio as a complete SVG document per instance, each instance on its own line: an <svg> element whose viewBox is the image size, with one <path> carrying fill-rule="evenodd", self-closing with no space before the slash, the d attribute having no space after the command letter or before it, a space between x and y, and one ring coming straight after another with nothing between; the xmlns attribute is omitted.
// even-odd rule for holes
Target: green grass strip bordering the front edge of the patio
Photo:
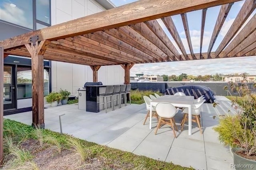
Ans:
<svg viewBox="0 0 256 170"><path fill-rule="evenodd" d="M13 121L10 119L4 119L4 137L14 137L14 142L20 142L22 140L37 139L33 135L35 129L32 126L25 125L23 123ZM70 138L74 138L70 135L61 135L60 133L50 131L48 129L42 130L44 136L51 136L57 139L64 149L70 149ZM38 139L37 139L38 140ZM96 143L88 142L85 140L77 139L85 150L90 153L90 158L104 157L107 163L110 165L118 165L122 170L192 170L193 168L186 168L180 165L174 165L172 163L163 162L160 160L154 160L146 156L138 156L130 152L124 152L118 149L112 149L106 146L98 145ZM44 141L47 143L47 141ZM50 144L49 144L50 145ZM5 156L7 153L5 153ZM85 161L86 163L86 161ZM90 162L87 162L90 163ZM105 166L105 165L104 165ZM67 167L68 168L68 167ZM69 169L69 168L68 168ZM104 169L104 168L102 168ZM112 169L112 168L111 168Z"/></svg>

